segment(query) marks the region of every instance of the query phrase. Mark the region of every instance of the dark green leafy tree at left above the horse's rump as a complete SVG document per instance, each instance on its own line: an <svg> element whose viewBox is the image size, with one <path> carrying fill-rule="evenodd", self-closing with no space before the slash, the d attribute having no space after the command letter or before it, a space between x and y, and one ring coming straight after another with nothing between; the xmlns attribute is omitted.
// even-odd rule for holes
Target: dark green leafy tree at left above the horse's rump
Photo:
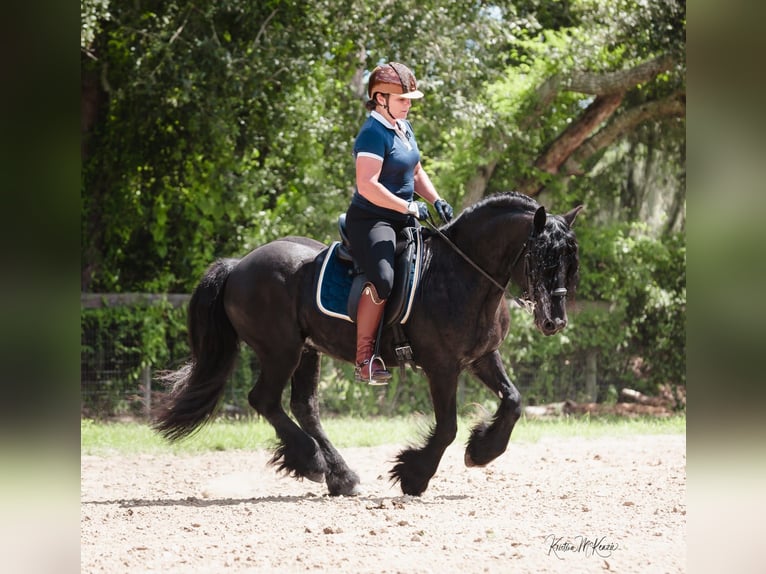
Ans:
<svg viewBox="0 0 766 574"><path fill-rule="evenodd" d="M308 219L293 200L335 191L312 175L339 125L327 25L294 2L110 6L82 52L83 290L188 290L281 196Z"/></svg>

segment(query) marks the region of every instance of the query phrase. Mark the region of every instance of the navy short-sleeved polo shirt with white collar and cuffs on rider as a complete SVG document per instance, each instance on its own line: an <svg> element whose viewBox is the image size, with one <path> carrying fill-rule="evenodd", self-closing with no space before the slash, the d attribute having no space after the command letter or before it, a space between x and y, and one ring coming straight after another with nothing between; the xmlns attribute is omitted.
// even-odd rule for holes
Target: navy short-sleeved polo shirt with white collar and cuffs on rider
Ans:
<svg viewBox="0 0 766 574"><path fill-rule="evenodd" d="M415 141L412 125L398 120L404 139L399 137L378 112L372 112L365 121L354 142L354 160L361 156L374 157L383 162L378 181L405 201L412 201L415 194L415 166L420 161L420 151ZM379 207L368 201L354 188L351 205L377 213L383 217L402 219L406 214Z"/></svg>

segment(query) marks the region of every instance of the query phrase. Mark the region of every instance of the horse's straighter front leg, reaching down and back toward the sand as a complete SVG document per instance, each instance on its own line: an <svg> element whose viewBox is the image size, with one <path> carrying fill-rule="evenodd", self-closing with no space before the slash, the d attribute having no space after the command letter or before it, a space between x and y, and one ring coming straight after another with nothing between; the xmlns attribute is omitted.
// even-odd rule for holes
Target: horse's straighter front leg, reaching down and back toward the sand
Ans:
<svg viewBox="0 0 766 574"><path fill-rule="evenodd" d="M444 451L457 436L457 369L438 374L426 372L434 405L436 423L422 448L400 452L391 470L391 479L399 482L402 492L420 496L436 474Z"/></svg>

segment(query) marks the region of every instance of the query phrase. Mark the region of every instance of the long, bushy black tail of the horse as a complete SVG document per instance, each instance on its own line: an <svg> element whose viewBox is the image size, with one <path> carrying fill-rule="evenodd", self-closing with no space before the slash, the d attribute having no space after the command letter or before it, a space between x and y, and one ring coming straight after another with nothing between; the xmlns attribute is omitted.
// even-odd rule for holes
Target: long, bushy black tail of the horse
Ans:
<svg viewBox="0 0 766 574"><path fill-rule="evenodd" d="M234 370L239 337L226 316L223 290L236 263L219 259L208 268L189 301L191 361L160 375L172 388L152 426L168 440L188 436L210 421Z"/></svg>

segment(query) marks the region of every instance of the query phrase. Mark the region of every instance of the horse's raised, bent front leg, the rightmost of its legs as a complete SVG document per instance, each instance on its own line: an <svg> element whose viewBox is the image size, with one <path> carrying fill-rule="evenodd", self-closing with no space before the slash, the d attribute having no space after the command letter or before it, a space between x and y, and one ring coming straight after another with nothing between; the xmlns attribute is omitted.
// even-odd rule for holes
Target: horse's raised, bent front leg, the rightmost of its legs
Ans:
<svg viewBox="0 0 766 574"><path fill-rule="evenodd" d="M469 368L500 398L495 416L471 430L465 449L466 466L484 466L505 452L521 416L521 395L508 378L498 351L474 361Z"/></svg>

